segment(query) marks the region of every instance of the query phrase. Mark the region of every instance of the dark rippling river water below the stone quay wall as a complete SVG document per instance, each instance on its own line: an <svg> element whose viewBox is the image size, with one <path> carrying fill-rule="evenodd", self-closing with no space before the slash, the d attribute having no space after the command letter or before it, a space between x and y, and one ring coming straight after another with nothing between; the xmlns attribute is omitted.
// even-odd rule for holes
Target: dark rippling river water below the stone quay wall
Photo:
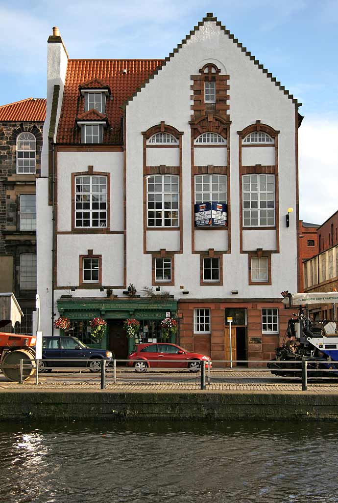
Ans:
<svg viewBox="0 0 338 503"><path fill-rule="evenodd" d="M338 425L0 423L1 503L336 503Z"/></svg>

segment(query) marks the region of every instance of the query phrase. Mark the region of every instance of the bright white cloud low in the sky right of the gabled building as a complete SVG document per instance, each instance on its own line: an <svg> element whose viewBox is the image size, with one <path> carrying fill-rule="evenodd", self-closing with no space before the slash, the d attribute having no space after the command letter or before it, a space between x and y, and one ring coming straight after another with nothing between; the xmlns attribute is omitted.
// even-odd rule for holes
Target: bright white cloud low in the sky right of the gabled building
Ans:
<svg viewBox="0 0 338 503"><path fill-rule="evenodd" d="M299 128L299 217L323 223L338 209L338 117L305 117Z"/></svg>

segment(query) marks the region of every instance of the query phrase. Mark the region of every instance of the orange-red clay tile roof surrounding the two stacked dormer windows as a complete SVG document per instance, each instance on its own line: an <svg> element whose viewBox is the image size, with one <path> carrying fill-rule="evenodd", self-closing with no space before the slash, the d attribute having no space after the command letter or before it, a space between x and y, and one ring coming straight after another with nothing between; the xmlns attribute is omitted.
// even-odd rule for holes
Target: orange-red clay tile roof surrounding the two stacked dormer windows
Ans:
<svg viewBox="0 0 338 503"><path fill-rule="evenodd" d="M69 59L57 143L81 143L81 131L75 123L84 112L79 86L85 89L84 84L94 79L100 86L109 86L112 95L112 100L106 101L110 127L104 131L103 143L122 143L121 106L161 64L160 59Z"/></svg>

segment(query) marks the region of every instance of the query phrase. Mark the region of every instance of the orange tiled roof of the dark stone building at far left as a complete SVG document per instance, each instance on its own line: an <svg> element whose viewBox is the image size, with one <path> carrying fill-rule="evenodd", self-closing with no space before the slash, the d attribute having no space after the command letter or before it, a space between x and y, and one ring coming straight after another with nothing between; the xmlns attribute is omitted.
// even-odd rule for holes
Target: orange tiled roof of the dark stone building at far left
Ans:
<svg viewBox="0 0 338 503"><path fill-rule="evenodd" d="M26 98L0 106L0 121L43 122L46 119L46 98Z"/></svg>

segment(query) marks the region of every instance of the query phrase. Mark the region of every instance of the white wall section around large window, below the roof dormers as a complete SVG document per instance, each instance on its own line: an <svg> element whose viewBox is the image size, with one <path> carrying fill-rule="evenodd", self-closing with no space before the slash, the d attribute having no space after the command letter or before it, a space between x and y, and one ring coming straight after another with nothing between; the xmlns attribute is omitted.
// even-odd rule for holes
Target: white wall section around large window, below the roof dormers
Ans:
<svg viewBox="0 0 338 503"><path fill-rule="evenodd" d="M110 173L110 230L123 230L123 152L58 152L58 231L72 230L72 173ZM74 236L76 239L76 236Z"/></svg>

